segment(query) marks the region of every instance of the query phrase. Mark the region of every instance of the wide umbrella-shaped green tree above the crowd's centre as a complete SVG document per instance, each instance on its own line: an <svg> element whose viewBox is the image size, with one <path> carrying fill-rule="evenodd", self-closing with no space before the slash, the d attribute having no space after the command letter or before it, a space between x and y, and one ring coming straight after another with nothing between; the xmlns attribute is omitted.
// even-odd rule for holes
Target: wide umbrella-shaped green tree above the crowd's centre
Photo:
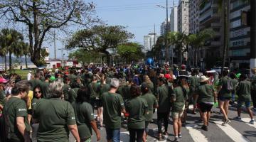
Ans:
<svg viewBox="0 0 256 142"><path fill-rule="evenodd" d="M89 29L77 31L68 40L66 48L83 48L87 51L104 53L107 56L107 65L110 65L110 50L118 45L127 43L134 35L123 26L93 26Z"/></svg>

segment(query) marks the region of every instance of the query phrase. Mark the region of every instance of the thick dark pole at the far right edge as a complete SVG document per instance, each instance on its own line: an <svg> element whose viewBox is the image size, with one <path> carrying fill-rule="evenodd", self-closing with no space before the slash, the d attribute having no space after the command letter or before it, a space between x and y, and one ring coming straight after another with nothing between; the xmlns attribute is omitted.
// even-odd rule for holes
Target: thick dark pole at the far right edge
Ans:
<svg viewBox="0 0 256 142"><path fill-rule="evenodd" d="M250 68L252 69L256 67L256 1L251 0L250 6Z"/></svg>

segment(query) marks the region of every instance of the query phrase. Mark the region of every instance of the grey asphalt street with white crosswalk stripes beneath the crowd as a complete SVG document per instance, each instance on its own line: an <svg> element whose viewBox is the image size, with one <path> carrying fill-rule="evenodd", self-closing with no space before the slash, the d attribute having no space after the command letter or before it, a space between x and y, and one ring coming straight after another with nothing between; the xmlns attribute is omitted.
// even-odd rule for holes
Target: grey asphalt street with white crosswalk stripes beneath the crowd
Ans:
<svg viewBox="0 0 256 142"><path fill-rule="evenodd" d="M96 111L95 111L95 114ZM235 107L230 107L230 112L228 114L231 123L227 126L222 126L222 115L219 114L218 108L213 108L213 114L210 118L210 124L208 126L208 131L204 131L201 129L203 125L199 113L190 114L188 113L188 119L186 126L182 127L181 133L182 138L181 141L198 141L198 142L248 142L248 141L256 141L256 124L251 125L248 122L250 121L250 116L246 113L242 113L242 121L235 120L234 118L237 116ZM255 117L256 119L256 117ZM36 131L34 131L36 133ZM100 130L101 133L101 141L107 142L105 128ZM147 141L155 142L157 141L157 125L156 125L156 113L154 113L154 122L149 124L149 136L147 137ZM164 137L164 141L173 141L174 140L174 131L172 127L172 119L169 119L169 127L168 127L168 136ZM33 134L33 141L36 141L36 134ZM75 141L73 136L70 134L70 141ZM92 141L96 141L95 133L92 134ZM121 129L121 141L128 142L129 141L129 132L127 131L126 122L123 121L122 129Z"/></svg>

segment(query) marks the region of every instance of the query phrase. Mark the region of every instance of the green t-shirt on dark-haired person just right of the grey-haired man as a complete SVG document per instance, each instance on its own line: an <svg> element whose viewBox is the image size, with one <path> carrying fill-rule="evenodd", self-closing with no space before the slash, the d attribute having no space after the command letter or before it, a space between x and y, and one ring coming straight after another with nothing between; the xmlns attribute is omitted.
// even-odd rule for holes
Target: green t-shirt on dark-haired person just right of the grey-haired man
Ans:
<svg viewBox="0 0 256 142"><path fill-rule="evenodd" d="M129 113L127 126L129 129L145 129L145 114L147 113L147 103L141 97L128 99L125 109Z"/></svg>

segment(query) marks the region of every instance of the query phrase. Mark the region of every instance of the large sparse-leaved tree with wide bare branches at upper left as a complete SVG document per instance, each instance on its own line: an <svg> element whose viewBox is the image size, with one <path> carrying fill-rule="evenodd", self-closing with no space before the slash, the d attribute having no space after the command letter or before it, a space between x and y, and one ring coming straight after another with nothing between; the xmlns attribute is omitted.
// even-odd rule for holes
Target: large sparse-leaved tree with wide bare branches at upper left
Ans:
<svg viewBox="0 0 256 142"><path fill-rule="evenodd" d="M41 66L41 48L51 29L66 31L70 23L90 26L95 6L83 0L1 0L0 18L26 26L31 61Z"/></svg>

